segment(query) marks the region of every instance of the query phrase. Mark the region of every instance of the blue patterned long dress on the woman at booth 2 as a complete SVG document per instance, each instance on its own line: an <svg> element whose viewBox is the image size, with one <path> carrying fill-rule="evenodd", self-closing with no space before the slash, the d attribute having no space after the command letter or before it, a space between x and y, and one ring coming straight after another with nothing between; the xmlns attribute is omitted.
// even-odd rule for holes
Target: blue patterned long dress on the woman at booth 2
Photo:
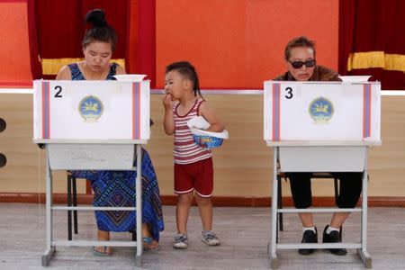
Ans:
<svg viewBox="0 0 405 270"><path fill-rule="evenodd" d="M72 80L85 80L77 64L68 65ZM112 63L107 80L115 79L117 64ZM164 229L162 202L160 201L157 176L148 152L142 148L142 222L150 224L152 238L158 240ZM134 161L136 166L136 161ZM72 171L77 178L85 178L92 184L94 206L134 207L136 205L136 171ZM135 211L95 211L97 227L106 231L134 231Z"/></svg>

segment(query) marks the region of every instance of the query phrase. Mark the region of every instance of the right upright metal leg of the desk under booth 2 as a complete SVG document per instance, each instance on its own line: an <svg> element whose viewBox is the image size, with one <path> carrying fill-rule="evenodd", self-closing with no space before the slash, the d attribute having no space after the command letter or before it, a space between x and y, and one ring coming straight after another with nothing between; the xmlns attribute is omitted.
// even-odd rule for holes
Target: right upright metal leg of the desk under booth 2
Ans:
<svg viewBox="0 0 405 270"><path fill-rule="evenodd" d="M137 203L137 255L135 257L135 265L142 266L142 251L143 251L143 241L142 241L142 151L141 146L137 145L137 180L136 180L136 203Z"/></svg>

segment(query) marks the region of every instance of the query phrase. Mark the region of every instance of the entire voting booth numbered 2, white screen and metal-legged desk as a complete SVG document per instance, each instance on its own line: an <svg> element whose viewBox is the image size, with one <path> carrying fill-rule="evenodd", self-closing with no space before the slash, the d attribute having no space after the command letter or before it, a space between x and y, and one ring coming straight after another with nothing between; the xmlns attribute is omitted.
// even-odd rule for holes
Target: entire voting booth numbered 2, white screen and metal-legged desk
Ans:
<svg viewBox="0 0 405 270"><path fill-rule="evenodd" d="M149 139L149 81L33 83L34 143L46 145L46 250L57 246L137 247L142 256L141 144ZM134 162L137 162L134 166ZM52 170L136 170L136 207L53 206ZM52 211L137 211L137 241L62 241L52 237Z"/></svg>

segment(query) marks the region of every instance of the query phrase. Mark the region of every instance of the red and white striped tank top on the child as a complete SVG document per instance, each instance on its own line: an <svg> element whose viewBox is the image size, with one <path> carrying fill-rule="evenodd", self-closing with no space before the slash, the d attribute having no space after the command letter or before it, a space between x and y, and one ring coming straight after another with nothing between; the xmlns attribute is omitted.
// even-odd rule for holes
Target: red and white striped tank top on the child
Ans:
<svg viewBox="0 0 405 270"><path fill-rule="evenodd" d="M175 117L175 163L190 164L211 157L211 150L202 148L193 140L193 134L187 126L187 121L198 116L198 109L203 100L197 98L193 108L185 115L178 115L177 109L180 103L173 105Z"/></svg>

